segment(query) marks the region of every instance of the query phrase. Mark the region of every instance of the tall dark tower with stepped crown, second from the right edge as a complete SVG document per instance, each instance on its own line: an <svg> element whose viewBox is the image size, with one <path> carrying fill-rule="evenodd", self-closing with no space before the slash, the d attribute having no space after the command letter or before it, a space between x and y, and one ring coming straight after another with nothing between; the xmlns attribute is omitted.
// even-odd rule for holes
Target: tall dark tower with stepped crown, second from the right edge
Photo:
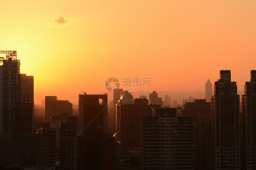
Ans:
<svg viewBox="0 0 256 170"><path fill-rule="evenodd" d="M240 105L230 70L221 70L212 96L214 169L241 169Z"/></svg>

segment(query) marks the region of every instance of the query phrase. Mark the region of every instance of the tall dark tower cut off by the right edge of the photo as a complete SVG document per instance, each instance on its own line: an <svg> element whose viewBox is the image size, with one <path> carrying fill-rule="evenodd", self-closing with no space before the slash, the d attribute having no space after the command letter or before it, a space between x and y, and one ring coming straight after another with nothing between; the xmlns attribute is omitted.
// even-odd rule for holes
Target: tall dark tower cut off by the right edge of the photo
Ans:
<svg viewBox="0 0 256 170"><path fill-rule="evenodd" d="M251 81L245 82L242 95L241 134L242 166L241 169L256 169L256 70L251 70Z"/></svg>

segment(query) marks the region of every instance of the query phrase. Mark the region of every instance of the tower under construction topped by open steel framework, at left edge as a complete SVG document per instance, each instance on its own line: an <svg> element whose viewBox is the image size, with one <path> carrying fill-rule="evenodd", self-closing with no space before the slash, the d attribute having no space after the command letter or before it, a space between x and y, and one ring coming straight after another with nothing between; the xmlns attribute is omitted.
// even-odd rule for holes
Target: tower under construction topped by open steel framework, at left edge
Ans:
<svg viewBox="0 0 256 170"><path fill-rule="evenodd" d="M21 80L20 80L20 61L17 60L17 51L0 51L0 54L5 54L0 56L0 134L8 133L10 134L10 139L15 139L15 134L17 132L17 117L23 115L21 106L21 92L23 93L23 98L29 96L25 90L21 89ZM34 85L34 77L33 85ZM34 90L34 89L33 89ZM24 92L26 94L24 94ZM33 91L32 91L33 93ZM31 95L33 96L33 94ZM31 127L31 118L32 118L32 107L34 101L32 102L28 99L26 102L30 102L29 109L30 111L29 121L26 121L26 128ZM24 99L22 103L25 102ZM18 116L19 115L19 116ZM20 122L20 121L19 121ZM30 125L27 124L29 122ZM25 123L25 122L20 122ZM24 127L25 127L24 126ZM21 126L20 126L21 127ZM19 129L20 131L21 129ZM21 130L22 131L22 130ZM28 132L28 130L26 130ZM31 131L29 131L31 133Z"/></svg>

